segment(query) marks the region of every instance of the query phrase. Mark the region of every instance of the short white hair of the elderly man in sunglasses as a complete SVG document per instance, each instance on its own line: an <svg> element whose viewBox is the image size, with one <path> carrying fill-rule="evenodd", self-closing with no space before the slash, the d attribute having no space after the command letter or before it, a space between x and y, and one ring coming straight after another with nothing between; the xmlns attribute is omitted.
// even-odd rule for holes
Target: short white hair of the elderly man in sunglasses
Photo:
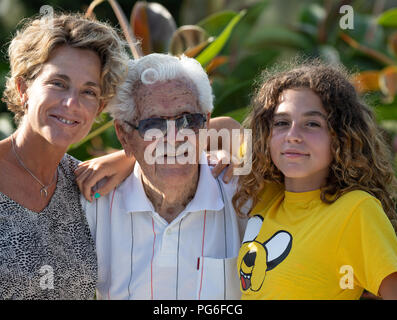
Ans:
<svg viewBox="0 0 397 320"><path fill-rule="evenodd" d="M191 82L190 85L195 86L193 93L198 95L201 111L208 113L214 108L212 89L207 73L197 60L184 55L174 57L168 54L153 53L128 61L127 78L117 89L106 111L115 120L133 119L136 110L133 90L137 88L137 83L147 85L166 80Z"/></svg>

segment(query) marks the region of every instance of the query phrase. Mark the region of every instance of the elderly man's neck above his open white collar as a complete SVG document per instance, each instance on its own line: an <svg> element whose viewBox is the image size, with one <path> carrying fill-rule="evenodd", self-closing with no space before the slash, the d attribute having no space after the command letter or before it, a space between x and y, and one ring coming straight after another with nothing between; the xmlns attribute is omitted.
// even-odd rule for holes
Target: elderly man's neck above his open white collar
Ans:
<svg viewBox="0 0 397 320"><path fill-rule="evenodd" d="M153 204L156 212L168 223L174 220L193 199L197 190L199 170L200 166L188 182L182 182L178 186L172 186L172 188L167 185L154 186L142 172L142 184L146 196Z"/></svg>

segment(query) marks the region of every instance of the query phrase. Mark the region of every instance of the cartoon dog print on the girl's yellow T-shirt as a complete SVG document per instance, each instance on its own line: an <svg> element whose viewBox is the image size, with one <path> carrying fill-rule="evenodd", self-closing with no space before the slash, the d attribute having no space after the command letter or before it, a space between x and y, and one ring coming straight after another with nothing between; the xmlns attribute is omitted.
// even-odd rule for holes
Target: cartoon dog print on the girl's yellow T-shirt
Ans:
<svg viewBox="0 0 397 320"><path fill-rule="evenodd" d="M259 234L263 218L253 216L247 223L247 228L241 247L240 287L242 291L258 291L265 280L266 272L278 266L289 254L292 247L292 236L289 232L280 230L269 239L263 239Z"/></svg>

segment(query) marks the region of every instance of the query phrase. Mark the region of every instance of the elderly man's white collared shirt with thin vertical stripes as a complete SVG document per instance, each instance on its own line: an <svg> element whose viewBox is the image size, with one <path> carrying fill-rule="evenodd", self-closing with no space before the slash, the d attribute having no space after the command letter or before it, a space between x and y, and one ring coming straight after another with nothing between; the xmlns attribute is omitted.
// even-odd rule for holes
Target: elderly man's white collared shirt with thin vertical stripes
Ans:
<svg viewBox="0 0 397 320"><path fill-rule="evenodd" d="M218 184L202 163L194 198L170 224L146 197L138 163L109 195L82 198L96 239L98 299L240 299L246 221L231 204L236 185Z"/></svg>

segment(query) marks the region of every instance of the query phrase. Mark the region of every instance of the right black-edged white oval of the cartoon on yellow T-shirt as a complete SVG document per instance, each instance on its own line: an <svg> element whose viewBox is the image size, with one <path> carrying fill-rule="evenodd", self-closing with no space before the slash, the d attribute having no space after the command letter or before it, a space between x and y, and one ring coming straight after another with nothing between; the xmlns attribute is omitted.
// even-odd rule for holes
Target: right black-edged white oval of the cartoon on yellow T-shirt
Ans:
<svg viewBox="0 0 397 320"><path fill-rule="evenodd" d="M288 256L292 247L292 236L287 231L278 231L263 246L267 251L267 270L269 271Z"/></svg>

